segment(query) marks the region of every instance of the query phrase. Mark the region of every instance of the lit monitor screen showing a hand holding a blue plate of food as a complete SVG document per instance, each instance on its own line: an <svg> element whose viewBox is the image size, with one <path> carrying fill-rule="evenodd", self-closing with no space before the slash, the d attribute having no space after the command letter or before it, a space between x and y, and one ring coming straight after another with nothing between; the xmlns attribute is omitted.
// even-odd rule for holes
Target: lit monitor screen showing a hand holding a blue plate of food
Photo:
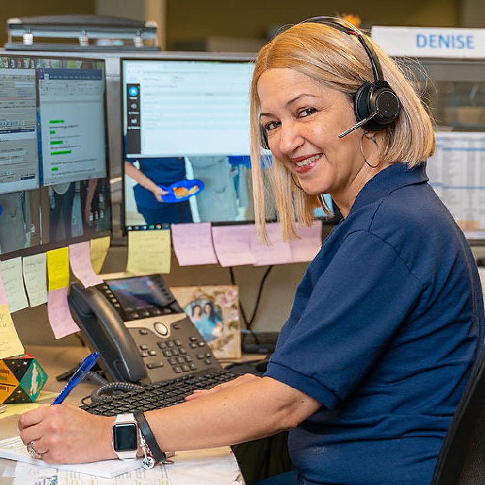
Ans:
<svg viewBox="0 0 485 485"><path fill-rule="evenodd" d="M125 231L254 222L252 71L251 57L121 59Z"/></svg>

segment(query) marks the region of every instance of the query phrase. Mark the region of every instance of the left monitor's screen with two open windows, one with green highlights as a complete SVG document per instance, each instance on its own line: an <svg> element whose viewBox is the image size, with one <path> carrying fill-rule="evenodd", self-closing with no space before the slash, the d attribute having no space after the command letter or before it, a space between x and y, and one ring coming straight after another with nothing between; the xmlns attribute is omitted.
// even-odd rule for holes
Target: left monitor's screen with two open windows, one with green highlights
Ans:
<svg viewBox="0 0 485 485"><path fill-rule="evenodd" d="M111 233L104 61L0 57L0 259Z"/></svg>

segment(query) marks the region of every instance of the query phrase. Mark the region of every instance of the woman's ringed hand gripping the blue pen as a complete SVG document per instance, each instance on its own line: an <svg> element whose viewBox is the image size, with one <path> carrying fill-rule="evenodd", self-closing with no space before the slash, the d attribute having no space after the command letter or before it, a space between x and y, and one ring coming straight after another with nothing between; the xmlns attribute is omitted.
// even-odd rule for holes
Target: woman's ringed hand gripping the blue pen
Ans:
<svg viewBox="0 0 485 485"><path fill-rule="evenodd" d="M89 414L69 404L41 406L20 417L25 445L47 463L85 463L116 458L111 445L114 418Z"/></svg>

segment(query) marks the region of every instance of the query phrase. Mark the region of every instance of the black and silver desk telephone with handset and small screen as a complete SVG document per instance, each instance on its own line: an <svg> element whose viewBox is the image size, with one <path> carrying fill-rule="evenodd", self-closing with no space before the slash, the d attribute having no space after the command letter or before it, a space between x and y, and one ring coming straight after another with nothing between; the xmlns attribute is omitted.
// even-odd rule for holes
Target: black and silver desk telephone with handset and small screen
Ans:
<svg viewBox="0 0 485 485"><path fill-rule="evenodd" d="M221 366L160 275L71 286L69 307L114 381L160 383Z"/></svg>

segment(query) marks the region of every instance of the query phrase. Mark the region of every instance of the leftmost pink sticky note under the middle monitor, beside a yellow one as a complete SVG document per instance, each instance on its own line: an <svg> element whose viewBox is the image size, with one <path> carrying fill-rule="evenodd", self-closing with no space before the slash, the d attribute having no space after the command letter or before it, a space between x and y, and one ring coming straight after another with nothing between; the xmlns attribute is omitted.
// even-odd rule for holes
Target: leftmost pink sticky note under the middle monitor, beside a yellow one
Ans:
<svg viewBox="0 0 485 485"><path fill-rule="evenodd" d="M210 222L172 224L170 231L180 266L217 263Z"/></svg>

